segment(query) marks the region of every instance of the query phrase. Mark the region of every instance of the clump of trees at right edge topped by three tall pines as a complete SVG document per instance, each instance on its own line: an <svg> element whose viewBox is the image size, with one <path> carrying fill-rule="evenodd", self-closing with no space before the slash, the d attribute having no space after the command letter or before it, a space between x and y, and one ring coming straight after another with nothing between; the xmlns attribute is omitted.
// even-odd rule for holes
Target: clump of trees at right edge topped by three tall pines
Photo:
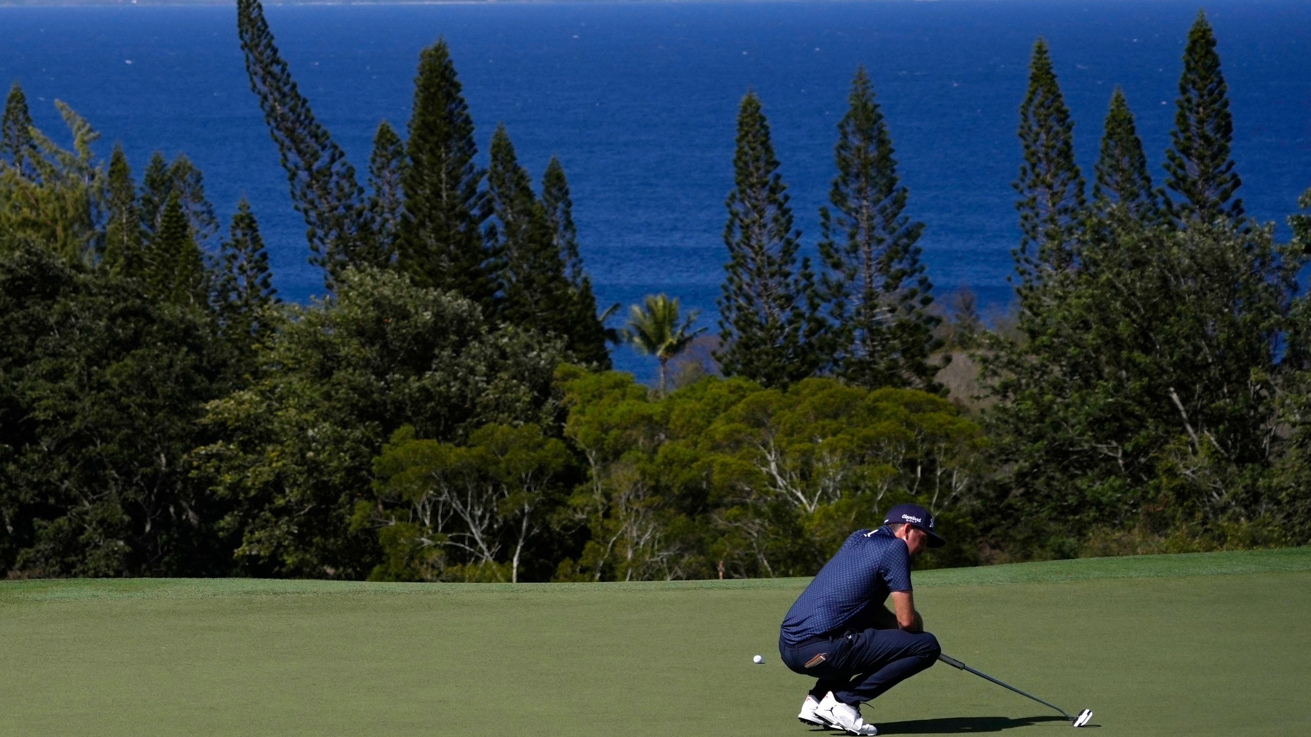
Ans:
<svg viewBox="0 0 1311 737"><path fill-rule="evenodd" d="M1243 216L1215 38L1188 34L1165 190L1117 89L1092 203L1046 46L1034 47L1016 189L1019 336L994 338L985 416L1004 472L996 542L1066 556L1304 542L1297 403L1306 231ZM1294 224L1301 223L1294 219ZM1298 505L1302 505L1301 508Z"/></svg>

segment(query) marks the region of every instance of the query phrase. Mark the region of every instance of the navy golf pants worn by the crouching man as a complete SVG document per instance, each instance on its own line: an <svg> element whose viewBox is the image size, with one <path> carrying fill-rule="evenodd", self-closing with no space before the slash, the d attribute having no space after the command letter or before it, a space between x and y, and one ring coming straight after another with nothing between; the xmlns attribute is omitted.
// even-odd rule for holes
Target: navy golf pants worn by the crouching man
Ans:
<svg viewBox="0 0 1311 737"><path fill-rule="evenodd" d="M905 629L851 629L832 637L812 637L798 645L779 640L779 654L794 673L817 678L810 695L817 700L832 691L835 699L856 706L928 669L943 648L928 632ZM806 667L817 656L822 662Z"/></svg>

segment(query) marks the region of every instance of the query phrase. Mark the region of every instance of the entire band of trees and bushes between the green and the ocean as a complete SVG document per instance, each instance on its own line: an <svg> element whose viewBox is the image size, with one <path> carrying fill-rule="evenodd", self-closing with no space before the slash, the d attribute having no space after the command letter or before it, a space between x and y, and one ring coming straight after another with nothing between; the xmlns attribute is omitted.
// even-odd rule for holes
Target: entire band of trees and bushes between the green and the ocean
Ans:
<svg viewBox="0 0 1311 737"><path fill-rule="evenodd" d="M1244 216L1205 16L1164 189L1109 101L1091 193L1042 39L1020 105L1017 312L943 311L861 68L819 233L793 223L747 92L726 201L717 371L667 365L696 315L598 312L568 180L509 131L479 161L444 42L367 178L315 118L257 0L252 89L326 295L283 304L245 202L199 169L134 176L0 121L0 565L9 576L599 581L805 576L901 501L926 565L1311 539L1306 264ZM404 138L402 138L404 134ZM1299 207L1311 207L1311 190ZM813 249L812 249L813 247ZM607 342L659 363L648 388ZM981 366L977 396L944 368ZM704 372L703 372L704 374Z"/></svg>

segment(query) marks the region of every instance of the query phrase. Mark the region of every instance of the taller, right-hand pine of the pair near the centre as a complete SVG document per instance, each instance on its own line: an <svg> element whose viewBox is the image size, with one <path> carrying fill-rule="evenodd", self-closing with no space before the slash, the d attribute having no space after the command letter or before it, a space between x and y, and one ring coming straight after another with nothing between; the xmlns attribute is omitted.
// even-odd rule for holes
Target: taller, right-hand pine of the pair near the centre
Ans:
<svg viewBox="0 0 1311 737"><path fill-rule="evenodd" d="M856 70L838 122L838 176L819 210L819 256L829 271L819 295L829 325L822 341L832 371L865 387L936 389L929 355L940 319L928 315L932 283L916 245L923 223L903 215L893 142L864 67Z"/></svg>

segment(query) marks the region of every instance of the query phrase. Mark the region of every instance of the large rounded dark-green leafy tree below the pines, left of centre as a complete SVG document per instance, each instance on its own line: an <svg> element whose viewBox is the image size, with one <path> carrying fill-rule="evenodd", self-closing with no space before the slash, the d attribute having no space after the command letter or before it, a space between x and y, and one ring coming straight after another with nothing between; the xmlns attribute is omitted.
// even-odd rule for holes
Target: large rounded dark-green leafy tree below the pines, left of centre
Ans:
<svg viewBox="0 0 1311 737"><path fill-rule="evenodd" d="M551 424L557 342L492 328L473 303L395 271L345 270L336 296L291 307L264 378L210 405L195 462L232 505L243 570L363 578L376 536L353 527L372 459L401 426L465 441L488 422Z"/></svg>

